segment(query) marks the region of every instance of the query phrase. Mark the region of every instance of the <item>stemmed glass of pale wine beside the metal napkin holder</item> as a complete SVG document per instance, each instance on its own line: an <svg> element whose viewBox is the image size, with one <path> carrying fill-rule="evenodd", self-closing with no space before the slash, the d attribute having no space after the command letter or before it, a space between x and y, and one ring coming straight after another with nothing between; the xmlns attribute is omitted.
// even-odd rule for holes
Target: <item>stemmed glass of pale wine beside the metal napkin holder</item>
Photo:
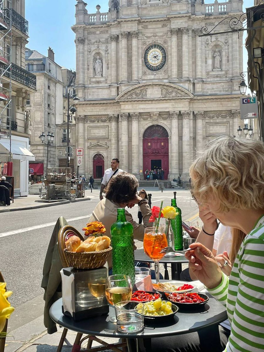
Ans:
<svg viewBox="0 0 264 352"><path fill-rule="evenodd" d="M128 275L108 276L105 283L105 295L109 304L114 306L123 301L130 301L132 297L132 284ZM109 321L117 322L115 316L110 316Z"/></svg>

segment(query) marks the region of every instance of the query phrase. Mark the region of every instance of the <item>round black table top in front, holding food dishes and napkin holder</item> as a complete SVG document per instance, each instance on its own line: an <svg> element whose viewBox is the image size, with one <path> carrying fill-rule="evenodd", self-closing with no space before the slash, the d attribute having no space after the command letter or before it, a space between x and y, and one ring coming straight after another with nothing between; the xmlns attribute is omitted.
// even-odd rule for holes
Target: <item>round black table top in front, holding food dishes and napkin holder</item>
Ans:
<svg viewBox="0 0 264 352"><path fill-rule="evenodd" d="M115 314L112 306L109 307L109 314ZM198 331L227 319L226 307L214 298L209 298L203 308L196 308L195 311L181 312L178 310L172 319L168 319L164 323L149 323L145 320L144 330L138 333L117 332L117 326L108 321L108 315L76 322L62 314L62 298L52 304L50 316L60 326L72 331L95 336L121 338L154 338L179 335Z"/></svg>

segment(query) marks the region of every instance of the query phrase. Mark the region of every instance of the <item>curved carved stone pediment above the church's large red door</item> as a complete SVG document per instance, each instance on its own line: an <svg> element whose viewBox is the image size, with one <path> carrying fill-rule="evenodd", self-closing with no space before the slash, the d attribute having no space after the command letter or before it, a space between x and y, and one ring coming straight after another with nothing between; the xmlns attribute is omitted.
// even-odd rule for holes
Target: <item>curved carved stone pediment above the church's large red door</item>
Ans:
<svg viewBox="0 0 264 352"><path fill-rule="evenodd" d="M137 84L132 88L122 92L116 100L156 100L156 99L171 99L171 98L193 98L193 95L188 90L176 86L176 84L155 82Z"/></svg>

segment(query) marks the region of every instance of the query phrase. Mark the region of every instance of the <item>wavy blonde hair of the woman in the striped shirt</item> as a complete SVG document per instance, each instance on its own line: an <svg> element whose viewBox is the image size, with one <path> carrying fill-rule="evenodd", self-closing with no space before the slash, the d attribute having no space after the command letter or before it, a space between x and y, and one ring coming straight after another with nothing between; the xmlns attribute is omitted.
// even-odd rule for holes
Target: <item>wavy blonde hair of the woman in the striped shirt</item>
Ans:
<svg viewBox="0 0 264 352"><path fill-rule="evenodd" d="M192 191L201 203L220 200L220 211L264 207L264 146L245 138L220 137L190 166Z"/></svg>

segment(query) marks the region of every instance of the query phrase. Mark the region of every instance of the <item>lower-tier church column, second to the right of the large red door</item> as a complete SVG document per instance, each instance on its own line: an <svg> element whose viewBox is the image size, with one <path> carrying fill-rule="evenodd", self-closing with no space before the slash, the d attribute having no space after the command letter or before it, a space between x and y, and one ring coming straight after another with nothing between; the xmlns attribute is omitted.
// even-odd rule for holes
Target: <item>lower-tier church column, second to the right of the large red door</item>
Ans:
<svg viewBox="0 0 264 352"><path fill-rule="evenodd" d="M181 111L182 114L182 176L183 181L189 177L190 166L190 111Z"/></svg>

